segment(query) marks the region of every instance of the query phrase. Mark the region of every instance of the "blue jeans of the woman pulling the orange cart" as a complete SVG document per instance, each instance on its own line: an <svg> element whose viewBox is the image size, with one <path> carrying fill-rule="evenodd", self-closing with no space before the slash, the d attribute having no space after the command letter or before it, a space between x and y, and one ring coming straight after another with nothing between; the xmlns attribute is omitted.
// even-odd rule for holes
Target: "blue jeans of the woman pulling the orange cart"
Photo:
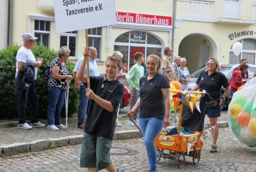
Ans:
<svg viewBox="0 0 256 172"><path fill-rule="evenodd" d="M149 172L156 172L157 151L155 140L161 129L163 129L164 122L157 118L140 118L139 121L150 165Z"/></svg>

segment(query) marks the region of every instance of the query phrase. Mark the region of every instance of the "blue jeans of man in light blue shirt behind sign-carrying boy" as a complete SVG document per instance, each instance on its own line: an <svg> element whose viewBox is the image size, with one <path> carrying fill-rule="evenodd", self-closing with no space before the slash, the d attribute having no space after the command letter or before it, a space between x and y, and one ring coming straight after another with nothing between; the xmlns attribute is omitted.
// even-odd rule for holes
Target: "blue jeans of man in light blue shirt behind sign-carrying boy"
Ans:
<svg viewBox="0 0 256 172"><path fill-rule="evenodd" d="M86 109L88 106L88 97L86 97L86 86L80 85L80 90L77 91L79 94L79 106L78 106L78 122L77 124L84 124Z"/></svg>

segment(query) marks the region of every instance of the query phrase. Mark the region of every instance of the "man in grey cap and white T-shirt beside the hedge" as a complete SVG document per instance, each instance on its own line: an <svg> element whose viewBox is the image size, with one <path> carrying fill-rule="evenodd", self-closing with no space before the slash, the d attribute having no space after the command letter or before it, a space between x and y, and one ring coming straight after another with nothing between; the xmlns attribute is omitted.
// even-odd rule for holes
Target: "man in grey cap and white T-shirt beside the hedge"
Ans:
<svg viewBox="0 0 256 172"><path fill-rule="evenodd" d="M38 68L42 65L42 61L36 61L35 56L31 49L35 46L36 37L31 33L22 35L23 45L19 48L16 55L16 73L15 73L15 89L18 95L18 115L19 124L17 127L21 129L31 129L32 127L44 127L45 124L39 122L39 102L35 88L35 81L37 77ZM28 67L30 65L30 67ZM27 66L27 67L26 67ZM26 70L34 72L35 77L26 74ZM22 80L23 77L31 77ZM20 84L19 84L20 83ZM31 101L31 121L30 125L26 122L26 104L28 97Z"/></svg>

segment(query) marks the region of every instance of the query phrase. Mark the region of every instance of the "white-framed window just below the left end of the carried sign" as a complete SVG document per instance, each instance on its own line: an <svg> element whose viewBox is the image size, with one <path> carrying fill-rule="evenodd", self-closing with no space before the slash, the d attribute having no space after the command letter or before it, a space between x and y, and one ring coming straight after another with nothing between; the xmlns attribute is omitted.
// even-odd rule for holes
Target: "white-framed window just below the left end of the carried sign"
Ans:
<svg viewBox="0 0 256 172"><path fill-rule="evenodd" d="M66 46L70 49L70 59L76 59L77 31L65 32L60 36L60 47Z"/></svg>

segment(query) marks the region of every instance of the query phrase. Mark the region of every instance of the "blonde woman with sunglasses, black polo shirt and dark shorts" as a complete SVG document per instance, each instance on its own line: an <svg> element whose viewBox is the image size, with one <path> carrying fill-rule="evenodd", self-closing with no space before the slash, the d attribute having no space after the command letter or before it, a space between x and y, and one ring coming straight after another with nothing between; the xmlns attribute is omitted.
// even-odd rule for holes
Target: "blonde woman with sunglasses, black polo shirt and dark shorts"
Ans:
<svg viewBox="0 0 256 172"><path fill-rule="evenodd" d="M206 62L206 67L207 69L200 73L192 90L205 90L213 100L218 100L218 104L214 108L205 107L205 113L207 113L211 125L212 146L210 152L214 153L217 152L216 142L219 133L217 121L218 117L220 117L220 105L228 96L230 86L226 76L220 72L220 65L217 59L210 57ZM222 96L221 87L225 88Z"/></svg>

